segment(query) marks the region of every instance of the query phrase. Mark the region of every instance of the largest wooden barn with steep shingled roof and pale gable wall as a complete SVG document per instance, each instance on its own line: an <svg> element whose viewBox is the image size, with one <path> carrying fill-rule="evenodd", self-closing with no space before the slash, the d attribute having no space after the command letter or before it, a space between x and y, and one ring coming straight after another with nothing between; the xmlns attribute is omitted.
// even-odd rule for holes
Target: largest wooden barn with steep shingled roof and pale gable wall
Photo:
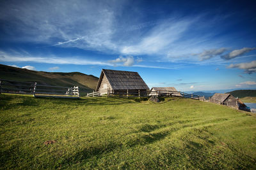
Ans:
<svg viewBox="0 0 256 170"><path fill-rule="evenodd" d="M140 74L133 71L117 71L102 69L96 87L99 95L108 94L140 94L147 96L148 86L141 78Z"/></svg>

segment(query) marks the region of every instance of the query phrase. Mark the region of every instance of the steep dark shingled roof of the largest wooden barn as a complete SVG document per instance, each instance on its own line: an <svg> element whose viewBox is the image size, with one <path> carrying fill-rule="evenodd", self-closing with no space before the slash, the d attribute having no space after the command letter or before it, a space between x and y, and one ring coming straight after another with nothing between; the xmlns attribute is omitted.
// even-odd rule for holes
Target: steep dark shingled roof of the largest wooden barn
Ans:
<svg viewBox="0 0 256 170"><path fill-rule="evenodd" d="M99 89L104 75L113 90L148 90L147 84L137 72L102 69L96 91Z"/></svg>

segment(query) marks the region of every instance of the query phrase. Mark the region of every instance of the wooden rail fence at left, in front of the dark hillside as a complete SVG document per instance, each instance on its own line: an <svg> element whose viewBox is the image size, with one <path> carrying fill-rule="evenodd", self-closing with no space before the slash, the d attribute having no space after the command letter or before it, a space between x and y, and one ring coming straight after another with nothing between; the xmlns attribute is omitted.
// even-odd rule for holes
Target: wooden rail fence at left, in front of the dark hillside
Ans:
<svg viewBox="0 0 256 170"><path fill-rule="evenodd" d="M36 82L0 80L0 93L31 94L35 97L79 97L79 87L40 85Z"/></svg>

